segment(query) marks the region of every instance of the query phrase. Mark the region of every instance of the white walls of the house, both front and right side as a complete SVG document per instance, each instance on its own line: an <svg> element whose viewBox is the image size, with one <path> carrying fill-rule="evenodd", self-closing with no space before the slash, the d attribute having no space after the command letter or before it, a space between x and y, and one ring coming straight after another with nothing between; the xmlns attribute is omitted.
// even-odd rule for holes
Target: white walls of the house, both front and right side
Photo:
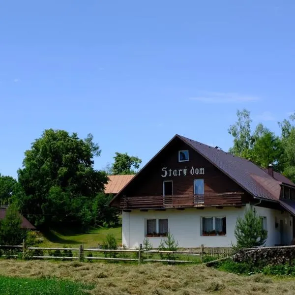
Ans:
<svg viewBox="0 0 295 295"><path fill-rule="evenodd" d="M292 226L290 226L289 213L281 214L281 211L264 207L255 207L258 214L266 217L266 227L268 237L266 246L281 244L280 226L275 229L275 221L284 220L285 244L290 244L292 240ZM179 247L195 248L204 244L205 247L229 247L231 243L236 243L234 230L237 216L243 216L245 207L224 207L223 209L205 208L198 210L186 208L185 210L167 209L166 211L148 210L142 212L134 210L122 212L122 244L127 247L138 247L145 238L146 220L156 218L168 218L169 231L179 242ZM201 236L201 217L223 217L226 216L227 234L226 236ZM287 220L287 224L286 223ZM148 238L154 248L159 246L162 237Z"/></svg>

